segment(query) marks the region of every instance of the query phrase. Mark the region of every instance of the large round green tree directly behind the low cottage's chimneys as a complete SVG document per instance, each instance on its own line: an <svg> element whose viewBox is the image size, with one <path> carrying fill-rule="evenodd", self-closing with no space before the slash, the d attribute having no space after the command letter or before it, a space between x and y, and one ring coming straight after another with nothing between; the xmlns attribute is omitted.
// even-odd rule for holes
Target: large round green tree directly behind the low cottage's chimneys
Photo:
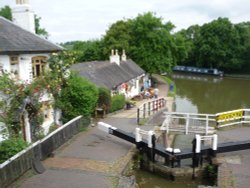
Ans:
<svg viewBox="0 0 250 188"><path fill-rule="evenodd" d="M104 36L105 54L125 49L127 55L149 73L168 72L176 64L177 47L171 35L174 25L148 12L118 21Z"/></svg>

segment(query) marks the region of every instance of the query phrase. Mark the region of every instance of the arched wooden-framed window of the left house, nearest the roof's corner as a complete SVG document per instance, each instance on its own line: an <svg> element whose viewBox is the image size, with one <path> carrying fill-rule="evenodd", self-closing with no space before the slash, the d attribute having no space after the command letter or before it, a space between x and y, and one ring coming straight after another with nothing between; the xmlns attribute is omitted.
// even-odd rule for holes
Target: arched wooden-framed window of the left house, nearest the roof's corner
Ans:
<svg viewBox="0 0 250 188"><path fill-rule="evenodd" d="M46 57L33 57L32 58L32 73L33 78L39 77L44 74L47 65Z"/></svg>

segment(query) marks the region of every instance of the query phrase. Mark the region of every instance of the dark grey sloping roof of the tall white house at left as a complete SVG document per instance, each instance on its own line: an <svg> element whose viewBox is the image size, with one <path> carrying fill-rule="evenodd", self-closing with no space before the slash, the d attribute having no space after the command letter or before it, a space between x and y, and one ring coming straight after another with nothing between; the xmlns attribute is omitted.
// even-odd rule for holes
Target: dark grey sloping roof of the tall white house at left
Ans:
<svg viewBox="0 0 250 188"><path fill-rule="evenodd" d="M62 50L0 16L0 54L50 53Z"/></svg>

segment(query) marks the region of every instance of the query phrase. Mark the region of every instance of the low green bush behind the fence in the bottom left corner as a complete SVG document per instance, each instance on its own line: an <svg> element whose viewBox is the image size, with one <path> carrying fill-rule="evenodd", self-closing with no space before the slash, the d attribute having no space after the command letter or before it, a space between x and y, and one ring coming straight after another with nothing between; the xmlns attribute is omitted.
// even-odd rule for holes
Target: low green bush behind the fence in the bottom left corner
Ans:
<svg viewBox="0 0 250 188"><path fill-rule="evenodd" d="M0 143L0 164L22 151L28 144L21 138L11 138Z"/></svg>

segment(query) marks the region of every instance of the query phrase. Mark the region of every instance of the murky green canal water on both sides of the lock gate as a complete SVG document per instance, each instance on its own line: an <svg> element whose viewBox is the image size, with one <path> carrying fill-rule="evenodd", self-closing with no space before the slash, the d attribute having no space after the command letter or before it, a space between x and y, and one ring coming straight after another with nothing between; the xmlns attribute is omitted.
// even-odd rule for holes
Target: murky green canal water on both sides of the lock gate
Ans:
<svg viewBox="0 0 250 188"><path fill-rule="evenodd" d="M174 74L177 112L211 113L250 108L250 80ZM149 172L138 170L139 188L193 188L198 182L173 182Z"/></svg>

